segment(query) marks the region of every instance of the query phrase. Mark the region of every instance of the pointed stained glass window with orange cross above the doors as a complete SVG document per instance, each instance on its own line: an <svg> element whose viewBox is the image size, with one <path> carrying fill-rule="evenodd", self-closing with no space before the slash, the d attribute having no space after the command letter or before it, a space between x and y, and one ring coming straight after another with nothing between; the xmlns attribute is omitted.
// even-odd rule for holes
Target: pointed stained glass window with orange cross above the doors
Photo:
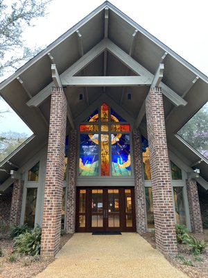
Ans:
<svg viewBox="0 0 208 278"><path fill-rule="evenodd" d="M80 124L79 176L131 176L130 124L103 103Z"/></svg>

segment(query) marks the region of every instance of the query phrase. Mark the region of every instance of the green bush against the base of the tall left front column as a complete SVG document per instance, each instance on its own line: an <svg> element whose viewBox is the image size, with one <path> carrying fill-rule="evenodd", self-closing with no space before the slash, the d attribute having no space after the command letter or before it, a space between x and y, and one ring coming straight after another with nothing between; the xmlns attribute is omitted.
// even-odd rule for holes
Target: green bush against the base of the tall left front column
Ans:
<svg viewBox="0 0 208 278"><path fill-rule="evenodd" d="M32 231L26 231L14 238L15 252L31 256L40 254L41 232L41 228L37 226Z"/></svg>

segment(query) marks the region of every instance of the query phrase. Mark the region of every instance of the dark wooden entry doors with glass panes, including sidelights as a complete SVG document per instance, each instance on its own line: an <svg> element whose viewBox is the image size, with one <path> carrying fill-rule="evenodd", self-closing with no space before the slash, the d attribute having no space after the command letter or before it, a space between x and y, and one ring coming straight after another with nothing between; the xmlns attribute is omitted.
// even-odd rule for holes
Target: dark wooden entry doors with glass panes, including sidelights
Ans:
<svg viewBox="0 0 208 278"><path fill-rule="evenodd" d="M133 188L78 188L76 231L135 231Z"/></svg>

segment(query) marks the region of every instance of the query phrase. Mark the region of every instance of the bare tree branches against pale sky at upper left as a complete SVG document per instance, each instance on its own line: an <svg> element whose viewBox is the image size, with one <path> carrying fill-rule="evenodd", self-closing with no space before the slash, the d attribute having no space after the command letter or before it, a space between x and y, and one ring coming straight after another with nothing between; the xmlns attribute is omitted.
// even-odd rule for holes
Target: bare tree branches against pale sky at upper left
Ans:
<svg viewBox="0 0 208 278"><path fill-rule="evenodd" d="M29 49L22 39L33 19L44 17L50 0L0 0L0 76L16 70L41 49Z"/></svg>

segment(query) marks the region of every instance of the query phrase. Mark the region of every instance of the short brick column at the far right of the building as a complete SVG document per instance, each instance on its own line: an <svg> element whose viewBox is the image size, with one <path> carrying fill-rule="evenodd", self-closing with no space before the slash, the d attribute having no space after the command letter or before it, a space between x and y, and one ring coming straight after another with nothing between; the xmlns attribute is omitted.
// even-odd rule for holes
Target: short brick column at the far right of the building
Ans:
<svg viewBox="0 0 208 278"><path fill-rule="evenodd" d="M187 179L186 183L189 202L189 213L191 219L191 231L193 233L202 233L202 215L200 211L200 202L198 198L196 179Z"/></svg>

